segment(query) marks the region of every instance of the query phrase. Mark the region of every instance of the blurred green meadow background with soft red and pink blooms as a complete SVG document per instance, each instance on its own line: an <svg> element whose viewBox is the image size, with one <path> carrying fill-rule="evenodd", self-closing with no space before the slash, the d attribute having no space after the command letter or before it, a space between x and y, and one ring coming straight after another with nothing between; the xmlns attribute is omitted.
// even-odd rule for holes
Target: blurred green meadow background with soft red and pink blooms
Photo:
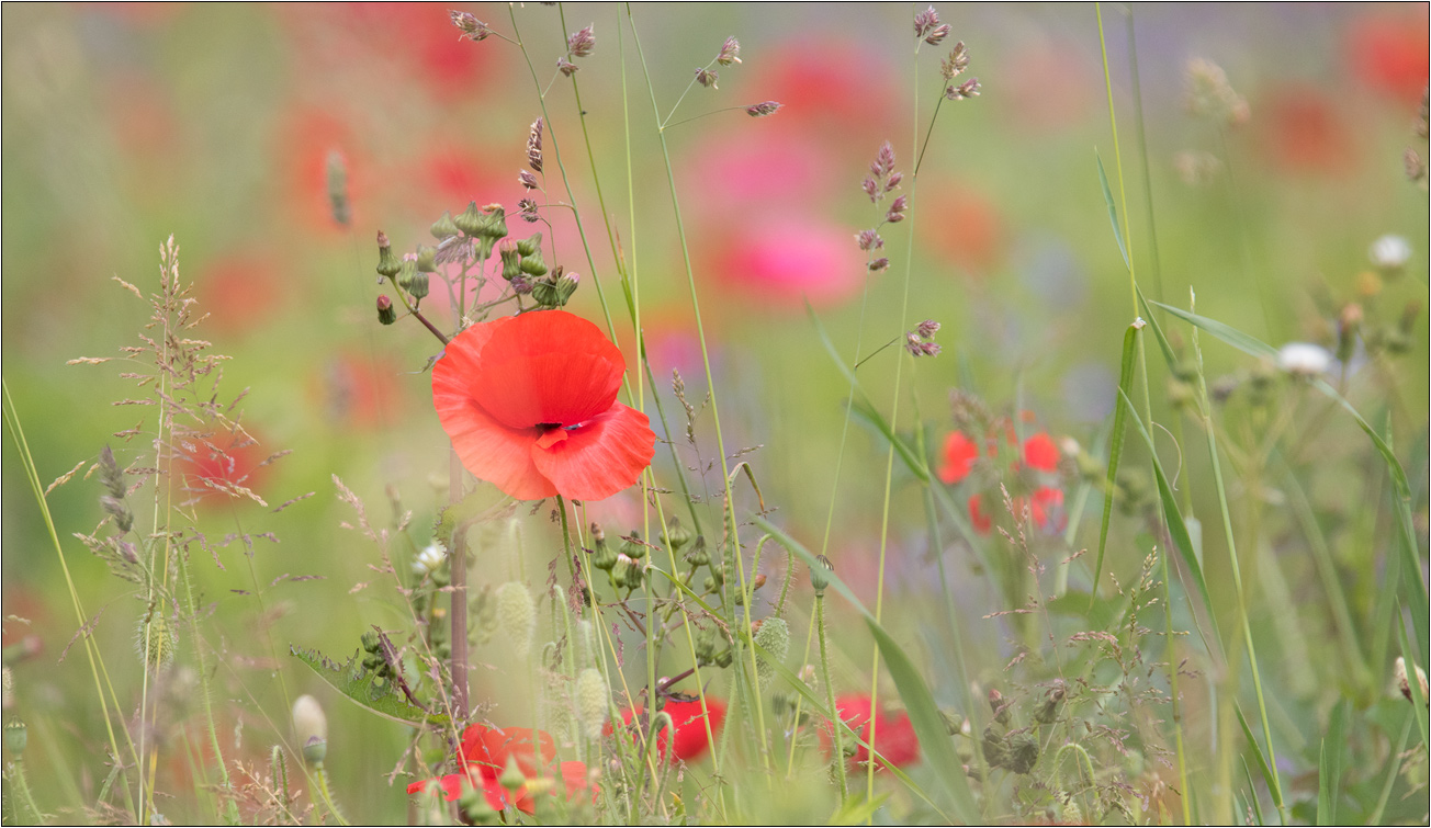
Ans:
<svg viewBox="0 0 1431 828"><path fill-rule="evenodd" d="M313 692L329 718L335 794L349 815L379 822L409 814L405 779L392 787L384 781L408 734L335 694L323 695L326 688L286 651L292 642L346 655L371 625L391 628L402 618L391 582L372 571L378 563L372 543L341 528L353 518L336 498L333 475L384 523L389 492L401 496L402 508L416 515L408 555L425 545L419 535L441 498L434 475L445 476L446 436L422 373L438 345L411 320L394 327L376 323L376 232L409 249L426 239L442 210L456 213L469 200L504 202L511 215L524 194L517 172L528 124L539 114L532 79L511 44L459 41L446 9L120 3L3 10L0 342L4 380L41 483L76 463L87 468L106 443L122 466L146 450L142 436L127 443L112 436L149 413L112 405L133 396L132 383L117 376L113 363L66 362L112 356L135 343L147 307L110 277L152 292L159 245L173 235L180 275L193 282L199 310L212 315L200 337L233 358L223 366L223 386L229 395L250 389L242 422L260 442L256 456L292 449L256 469L248 483L269 508L218 496L193 508L215 545L232 535L272 535L255 541L250 556L242 542L230 542L216 561L203 555L193 561L206 608L206 645L218 654L225 748L230 761L262 764L269 745L286 738L292 696ZM462 9L511 31L504 6ZM595 23L598 49L582 60L578 80L608 209L624 226L627 150L615 30L625 11L604 4L571 4L562 11L572 31ZM743 459L751 463L764 501L778 509L773 519L807 545L824 531L849 388L803 299L846 353L860 336L866 290L866 353L923 319L942 323L943 353L919 359L913 370L906 366L903 399L906 406L916 400L917 415L904 408L900 422L910 429L910 418L920 419L933 465L954 428L953 388L1002 413L1032 412L1025 420L1030 430L1073 438L1095 456L1106 440L1100 435L1113 412L1132 309L1095 156L1096 150L1112 176L1098 19L1090 6L1063 4L942 11L953 27L950 43L969 44L982 96L946 102L910 220L887 235L893 267L866 279L864 255L853 236L880 213L860 192L860 180L884 140L893 143L900 169L910 164L913 11L856 4L634 10L663 107L730 34L740 39L743 63L721 69L718 90L693 90L681 116L763 100L784 104L767 119L748 119L740 109L703 117L670 129L667 137L726 443L758 446ZM517 14L545 84L570 31L561 30L555 9L529 4ZM1372 360L1358 345L1338 388L1378 429L1391 425L1412 488L1420 562L1420 572L1402 578L1425 582L1428 213L1425 189L1407 180L1402 160L1408 146L1427 154L1425 139L1412 132L1427 83L1425 6L1138 7L1145 149L1130 97L1125 14L1123 7L1103 7L1133 255L1149 299L1185 307L1195 289L1198 313L1274 348L1304 340L1331 349L1347 303L1359 302L1368 319L1388 326L1408 303L1420 303L1404 352L1391 362ZM919 76L922 119L933 106L930 90L939 86L929 51ZM1189 114L1192 59L1212 60L1226 72L1246 100L1246 123L1219 127ZM633 82L638 80L633 70ZM664 382L678 369L688 398L698 400L705 379L661 150L644 89L637 86L631 100L640 232L622 243L640 259L653 372ZM604 237L568 84L558 79L547 103L587 230ZM333 220L328 200L333 150L348 172L346 226ZM565 197L551 173L551 190ZM1152 222L1156 263L1148 243ZM509 219L509 225L519 223ZM900 319L906 232L913 233L913 310ZM1374 276L1379 282L1368 293L1368 273L1377 272L1368 250L1385 235L1408 240L1411 259L1400 279ZM567 309L600 320L571 223L558 220L550 236L555 250L548 250L548 262L567 263L584 277ZM594 250L598 275L612 279L610 249L600 243ZM608 295L612 283L607 282ZM1162 325L1182 342L1189 339L1186 325L1171 317ZM630 329L622 335L627 340L618 343L631 363ZM1182 415L1169 399L1168 372L1155 350L1149 346L1155 416L1182 435L1173 425ZM1256 368L1252 358L1206 335L1202 350L1209 382ZM890 349L884 365L871 362L861 370L877 406L890 399L896 353L904 359ZM658 389L674 405L668 390ZM1295 443L1288 450L1298 458L1301 493L1289 493L1279 479L1248 482L1236 470L1228 473L1235 503L1266 503L1252 543L1259 559L1275 563L1252 569L1249 611L1284 784L1294 802L1315 804L1318 745L1332 706L1347 698L1355 711L1352 729L1361 728L1351 741L1364 759L1358 767L1348 762L1342 814L1365 819L1388 785L1390 804L1379 818L1424 821L1424 791L1405 799L1414 779L1385 775L1407 715L1407 702L1392 688L1395 635L1388 638L1385 625L1377 629L1378 578L1395 543L1387 526L1392 495L1385 468L1365 435L1348 418L1327 413L1325 399L1315 393L1288 386L1272 405L1274 419L1281 412L1296 420L1288 433L1305 435L1305 440L1288 438ZM1301 430L1315 418L1325 422ZM1242 413L1229 423L1259 428ZM698 436L708 440L708 418L698 426ZM1208 453L1201 435L1188 429L1191 448L1173 459L1169 440L1163 463L1178 468L1181 460L1181 479L1191 480L1191 492L1179 491L1178 499L1202 519L1212 601L1232 618L1226 551L1211 529L1219 519ZM1141 462L1146 470L1141 440L1130 443L1130 456L1143 459L1125 462L1129 468ZM707 460L713 445L704 446ZM887 448L874 429L851 425L827 552L839 576L867 603L874 601ZM93 805L107 774L93 682L77 646L66 655L77 624L9 436L3 452L4 659L14 682L14 706L6 714L23 715L29 725L29 778L41 808L100 818L73 811ZM657 456L658 463L668 462L664 446ZM698 462L694 455L688 459ZM720 473L705 485L718 492ZM273 512L309 492L311 498ZM954 533L943 535L943 549L930 549L924 499L899 466L893 492L886 625L916 655L936 699L954 704L962 694L949 658L953 634L933 558L943 555L970 678L980 689L1007 689L1000 685L1007 681L1005 668L1023 645L1007 618L986 616L1010 606L986 575L973 571ZM1364 651L1355 669L1335 644L1325 579L1311 561L1302 512L1289 505L1302 493L1347 591L1351 635ZM143 666L130 654L145 605L72 539L103 518L99 495L94 479L76 476L49 496L49 506L76 591L92 615L102 613L94 641L119 698L132 705L126 688L137 686ZM1073 551L1098 546L1100 499L1093 492L1082 503L1076 538L1068 543L1045 538L1039 546L1050 568ZM604 525L638 525L640 503L630 493L591 509ZM528 555L528 575L535 583L547 575L541 551L555 546L542 535L544 521L532 523L538 539L531 548L538 552ZM1105 569L1122 583L1136 581L1149 552L1141 531L1138 521L1115 509ZM484 569L479 558L474 578L495 585L514 573L509 566L494 562ZM771 582L778 582L783 566L783 559L768 565ZM285 575L321 579L285 581ZM1075 571L1072 588L1086 593L1088 581L1086 572ZM355 591L362 583L368 586ZM1103 586L1109 589L1106 581ZM796 589L809 596L804 576ZM1182 629L1191 626L1188 605L1176 608ZM856 613L837 603L831 612L840 654L836 684L867 688L873 642ZM791 626L804 629L803 621ZM1231 636L1229 629L1225 622ZM1425 642L1420 645L1424 651ZM495 709L519 709L524 695L502 675L504 659L509 654L499 646L474 654L474 698L495 702ZM638 661L628 662L633 681L644 675ZM800 669L794 658L788 665ZM282 684L275 681L279 675ZM1189 741L1206 745L1216 711L1206 685L1189 684L1185 726ZM185 795L193 789L185 775L203 762L179 746L189 738L192 711L183 709L180 691L167 704L176 706L162 738L173 749L162 761L172 767L159 778L177 798L160 808L175 821L203 819L199 799ZM1198 755L1211 752L1199 748ZM1172 778L1166 768L1162 774ZM1198 778L1202 774L1212 771L1199 759ZM804 808L814 807L791 797L746 815L780 822L817 811ZM890 808L880 819L906 814L900 799ZM1292 814L1311 818L1305 809ZM820 811L816 818L826 815Z"/></svg>

